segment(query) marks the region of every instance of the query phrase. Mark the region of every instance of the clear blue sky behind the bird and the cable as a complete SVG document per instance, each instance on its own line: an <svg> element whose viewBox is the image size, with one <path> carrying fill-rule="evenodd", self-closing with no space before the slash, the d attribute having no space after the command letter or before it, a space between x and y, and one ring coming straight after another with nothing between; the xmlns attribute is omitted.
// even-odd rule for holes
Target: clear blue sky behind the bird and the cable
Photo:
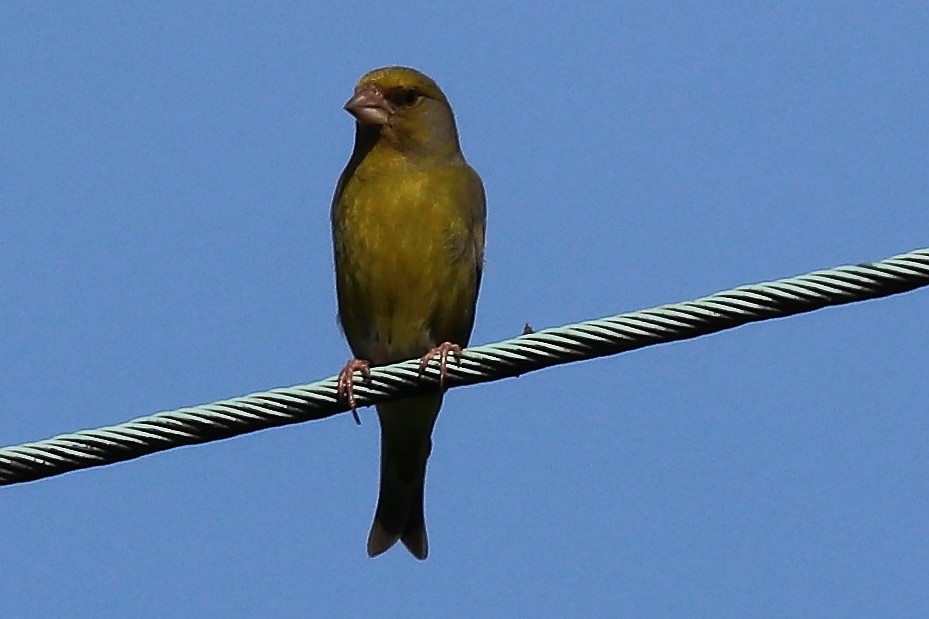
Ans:
<svg viewBox="0 0 929 619"><path fill-rule="evenodd" d="M924 2L6 3L0 444L331 376L342 110L433 76L473 342L929 245ZM758 4L756 7L760 6ZM0 489L3 617L929 616L929 291Z"/></svg>

